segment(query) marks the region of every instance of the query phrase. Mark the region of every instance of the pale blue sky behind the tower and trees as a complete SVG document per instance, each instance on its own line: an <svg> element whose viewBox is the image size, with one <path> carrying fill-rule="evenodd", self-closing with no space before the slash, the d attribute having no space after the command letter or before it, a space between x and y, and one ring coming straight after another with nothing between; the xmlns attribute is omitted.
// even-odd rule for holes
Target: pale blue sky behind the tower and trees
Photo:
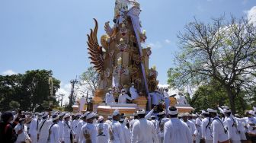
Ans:
<svg viewBox="0 0 256 143"><path fill-rule="evenodd" d="M209 22L222 14L247 16L255 0L140 0L142 29L152 46L150 65L156 65L158 80L167 83L167 70L178 51L178 31L194 17ZM256 7L254 7L256 11ZM256 13L255 13L256 14ZM112 21L114 0L1 0L0 74L51 69L54 77L68 84L90 65L86 34L99 22ZM113 23L112 23L113 24Z"/></svg>

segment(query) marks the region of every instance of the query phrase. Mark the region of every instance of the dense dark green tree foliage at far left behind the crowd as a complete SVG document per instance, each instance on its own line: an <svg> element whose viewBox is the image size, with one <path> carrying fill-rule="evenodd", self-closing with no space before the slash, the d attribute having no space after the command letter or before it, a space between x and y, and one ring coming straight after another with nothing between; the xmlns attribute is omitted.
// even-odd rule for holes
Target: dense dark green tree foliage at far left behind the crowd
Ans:
<svg viewBox="0 0 256 143"><path fill-rule="evenodd" d="M55 94L60 81L53 79L53 96L50 94L49 78L52 71L32 70L18 75L0 75L0 110L43 110L45 102L58 105ZM9 105L9 106L6 106ZM20 104L20 106L18 106Z"/></svg>

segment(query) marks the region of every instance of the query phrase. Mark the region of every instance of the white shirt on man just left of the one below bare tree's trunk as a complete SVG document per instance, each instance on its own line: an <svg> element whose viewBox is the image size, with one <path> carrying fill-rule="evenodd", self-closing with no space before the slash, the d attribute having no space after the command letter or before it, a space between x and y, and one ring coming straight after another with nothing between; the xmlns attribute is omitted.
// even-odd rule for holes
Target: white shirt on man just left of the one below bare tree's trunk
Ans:
<svg viewBox="0 0 256 143"><path fill-rule="evenodd" d="M228 140L228 135L226 134L224 130L224 124L219 117L215 117L212 122L212 128L213 128L213 143L218 143L222 141Z"/></svg>

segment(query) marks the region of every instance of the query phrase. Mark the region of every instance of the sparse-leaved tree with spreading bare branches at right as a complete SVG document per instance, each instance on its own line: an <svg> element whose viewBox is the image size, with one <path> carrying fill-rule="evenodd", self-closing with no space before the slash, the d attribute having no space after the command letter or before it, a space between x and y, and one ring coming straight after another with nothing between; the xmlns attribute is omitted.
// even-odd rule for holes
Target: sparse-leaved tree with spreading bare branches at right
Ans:
<svg viewBox="0 0 256 143"><path fill-rule="evenodd" d="M256 27L244 18L223 17L210 24L192 21L178 34L181 52L168 83L175 87L207 84L213 78L224 87L235 113L235 98L250 89L256 74Z"/></svg>

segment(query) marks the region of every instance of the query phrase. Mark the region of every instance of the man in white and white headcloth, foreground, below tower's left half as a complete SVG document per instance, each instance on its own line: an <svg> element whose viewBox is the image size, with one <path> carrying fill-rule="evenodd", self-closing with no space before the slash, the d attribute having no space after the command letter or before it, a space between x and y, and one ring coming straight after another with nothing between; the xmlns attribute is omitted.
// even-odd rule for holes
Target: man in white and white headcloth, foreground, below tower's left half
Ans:
<svg viewBox="0 0 256 143"><path fill-rule="evenodd" d="M120 122L118 122L120 120L119 110L114 110L114 113L112 115L113 115L113 122L111 123L108 129L110 132L109 142L123 143L125 142L124 132Z"/></svg>

